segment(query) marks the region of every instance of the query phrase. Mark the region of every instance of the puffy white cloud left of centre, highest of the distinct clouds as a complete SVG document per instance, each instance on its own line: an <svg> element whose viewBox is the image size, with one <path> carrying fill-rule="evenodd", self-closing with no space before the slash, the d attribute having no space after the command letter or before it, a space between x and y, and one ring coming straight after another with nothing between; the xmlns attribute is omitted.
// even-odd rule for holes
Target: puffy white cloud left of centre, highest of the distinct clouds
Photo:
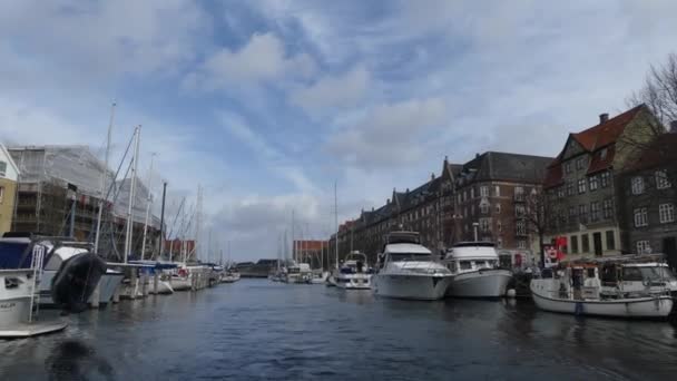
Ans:
<svg viewBox="0 0 677 381"><path fill-rule="evenodd" d="M306 78L315 62L306 53L287 57L283 41L273 33L255 33L238 50L222 48L187 77L187 85L225 89L229 85L256 85L290 76Z"/></svg>

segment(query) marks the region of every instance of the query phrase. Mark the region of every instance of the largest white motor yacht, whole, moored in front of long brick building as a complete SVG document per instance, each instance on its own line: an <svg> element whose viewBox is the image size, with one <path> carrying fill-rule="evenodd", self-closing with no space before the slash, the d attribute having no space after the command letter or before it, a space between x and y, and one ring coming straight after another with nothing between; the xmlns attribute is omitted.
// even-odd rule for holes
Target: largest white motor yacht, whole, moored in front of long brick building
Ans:
<svg viewBox="0 0 677 381"><path fill-rule="evenodd" d="M434 262L432 252L420 244L418 233L393 232L372 287L380 296L432 301L444 297L452 280L449 268Z"/></svg>

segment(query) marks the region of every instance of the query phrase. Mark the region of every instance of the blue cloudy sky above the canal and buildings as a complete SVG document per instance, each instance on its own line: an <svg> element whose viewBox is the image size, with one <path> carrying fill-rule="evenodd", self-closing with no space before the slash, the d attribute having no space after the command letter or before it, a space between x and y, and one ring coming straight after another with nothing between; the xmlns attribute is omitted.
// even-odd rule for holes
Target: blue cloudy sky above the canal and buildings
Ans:
<svg viewBox="0 0 677 381"><path fill-rule="evenodd" d="M227 242L236 261L275 257L293 212L298 238L335 229L334 184L344 221L445 156L556 156L677 51L674 14L670 0L0 0L0 141L101 156L115 101L114 162L141 125L139 173L155 153L168 214L204 188L203 257Z"/></svg>

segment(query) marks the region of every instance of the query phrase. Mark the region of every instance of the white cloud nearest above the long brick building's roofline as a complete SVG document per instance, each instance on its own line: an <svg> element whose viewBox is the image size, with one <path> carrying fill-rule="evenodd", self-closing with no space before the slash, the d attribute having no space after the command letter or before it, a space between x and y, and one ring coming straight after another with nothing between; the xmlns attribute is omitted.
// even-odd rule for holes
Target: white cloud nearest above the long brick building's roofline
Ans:
<svg viewBox="0 0 677 381"><path fill-rule="evenodd" d="M423 156L432 127L441 128L445 117L439 98L382 104L352 127L335 131L327 148L349 165L395 168Z"/></svg>

